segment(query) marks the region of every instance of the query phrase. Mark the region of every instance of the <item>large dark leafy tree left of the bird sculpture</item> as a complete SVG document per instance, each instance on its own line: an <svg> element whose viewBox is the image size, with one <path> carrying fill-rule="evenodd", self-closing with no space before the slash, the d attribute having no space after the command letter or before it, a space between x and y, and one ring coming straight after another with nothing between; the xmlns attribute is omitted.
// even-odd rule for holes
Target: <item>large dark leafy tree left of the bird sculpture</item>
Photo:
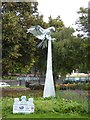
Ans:
<svg viewBox="0 0 90 120"><path fill-rule="evenodd" d="M37 3L7 2L2 3L2 53L3 75L10 73L30 72L36 56L38 41L26 34L31 25L42 23L42 16L33 16L37 12Z"/></svg>

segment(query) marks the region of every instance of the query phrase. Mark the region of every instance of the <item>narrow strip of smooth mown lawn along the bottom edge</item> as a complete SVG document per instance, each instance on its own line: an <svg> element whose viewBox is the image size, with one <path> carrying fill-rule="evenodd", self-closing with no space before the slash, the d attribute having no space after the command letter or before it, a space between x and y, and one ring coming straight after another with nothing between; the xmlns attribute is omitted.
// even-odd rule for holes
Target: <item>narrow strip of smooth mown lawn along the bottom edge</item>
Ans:
<svg viewBox="0 0 90 120"><path fill-rule="evenodd" d="M60 113L39 113L39 114L12 114L7 116L7 118L84 118L84 120L89 118L87 115L83 114L60 114Z"/></svg>

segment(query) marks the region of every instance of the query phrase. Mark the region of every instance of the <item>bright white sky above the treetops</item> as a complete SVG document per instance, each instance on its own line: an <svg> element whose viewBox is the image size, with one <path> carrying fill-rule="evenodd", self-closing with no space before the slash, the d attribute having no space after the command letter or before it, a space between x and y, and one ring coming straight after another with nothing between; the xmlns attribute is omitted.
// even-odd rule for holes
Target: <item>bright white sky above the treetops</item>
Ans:
<svg viewBox="0 0 90 120"><path fill-rule="evenodd" d="M38 11L48 22L48 17L56 18L60 15L66 27L74 26L78 19L77 11L80 7L88 7L90 0L37 0Z"/></svg>

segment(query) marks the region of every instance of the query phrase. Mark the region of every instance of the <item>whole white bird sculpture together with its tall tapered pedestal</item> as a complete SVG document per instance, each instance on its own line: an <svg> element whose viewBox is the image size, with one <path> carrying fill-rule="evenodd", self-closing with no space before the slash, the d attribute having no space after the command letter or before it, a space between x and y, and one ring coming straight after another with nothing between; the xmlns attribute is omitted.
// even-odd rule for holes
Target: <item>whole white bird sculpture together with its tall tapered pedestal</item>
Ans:
<svg viewBox="0 0 90 120"><path fill-rule="evenodd" d="M55 38L51 38L51 31L55 31L54 27L49 27L47 29L43 29L41 26L36 25L27 29L27 33L32 33L36 38L42 40L38 47L45 47L48 41L48 53L47 53L47 70L46 70L46 78L45 78L45 86L43 97L55 97L55 88L53 81L53 73L52 73L52 47L51 41Z"/></svg>

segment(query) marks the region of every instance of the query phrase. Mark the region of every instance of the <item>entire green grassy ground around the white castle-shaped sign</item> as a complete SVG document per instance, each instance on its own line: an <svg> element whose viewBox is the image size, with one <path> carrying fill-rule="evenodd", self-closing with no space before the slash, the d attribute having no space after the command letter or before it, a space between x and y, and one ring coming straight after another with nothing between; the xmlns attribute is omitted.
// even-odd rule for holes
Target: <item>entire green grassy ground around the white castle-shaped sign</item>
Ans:
<svg viewBox="0 0 90 120"><path fill-rule="evenodd" d="M55 98L42 98L41 95L37 97L32 92L26 96L34 98L35 112L33 114L13 114L13 98L9 96L2 98L3 118L88 118L86 91L79 93L79 91L59 90L56 91ZM20 98L20 95L17 97Z"/></svg>

